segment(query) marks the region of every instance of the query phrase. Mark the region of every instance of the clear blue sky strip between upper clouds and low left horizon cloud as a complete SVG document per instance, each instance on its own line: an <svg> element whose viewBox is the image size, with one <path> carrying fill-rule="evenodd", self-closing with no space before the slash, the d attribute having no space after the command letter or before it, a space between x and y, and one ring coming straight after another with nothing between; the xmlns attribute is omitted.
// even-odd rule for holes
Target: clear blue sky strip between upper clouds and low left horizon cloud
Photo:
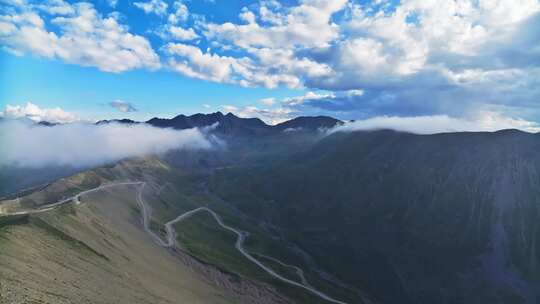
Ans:
<svg viewBox="0 0 540 304"><path fill-rule="evenodd" d="M104 73L91 67L34 56L17 57L7 52L1 53L0 62L2 104L31 101L43 108L60 107L90 120L125 117L147 120L177 113L224 111L223 105L244 106L268 96L285 98L301 94L287 88L213 83L171 71ZM117 111L108 105L114 100L129 102L137 111Z"/></svg>

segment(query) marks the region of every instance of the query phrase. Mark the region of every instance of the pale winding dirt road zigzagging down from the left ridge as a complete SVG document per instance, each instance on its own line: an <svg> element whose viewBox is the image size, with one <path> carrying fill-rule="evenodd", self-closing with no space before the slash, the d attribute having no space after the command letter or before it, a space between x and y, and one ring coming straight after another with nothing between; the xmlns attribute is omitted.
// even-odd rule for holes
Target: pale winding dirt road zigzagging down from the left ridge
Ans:
<svg viewBox="0 0 540 304"><path fill-rule="evenodd" d="M93 188L93 189L82 191L77 195L74 195L72 197L63 199L63 200L58 201L56 203L41 206L41 207L39 207L37 209L18 211L18 212L4 212L4 213L0 213L0 216L17 216L17 215L28 215L28 214L36 214L36 213L41 213L41 212L47 212L47 211L56 209L56 208L58 208L58 207L60 207L62 205L68 204L70 202L73 202L74 204L79 205L81 203L80 202L80 197L83 196L83 195L86 195L86 194L89 194L89 193L92 193L92 192L96 192L96 191L99 191L99 190L111 188L111 187L127 186L127 185L139 185L140 186L138 188L138 191L137 191L136 201L137 201L137 204L139 205L139 207L141 209L142 224L143 224L144 230L152 237L152 239L158 245L160 245L162 247L165 247L165 248L174 247L176 245L176 232L174 230L174 224L176 224L178 222L181 222L181 221L191 217L192 215L194 215L196 213L208 212L216 220L216 222L218 223L219 226L221 226L225 230L231 231L234 234L236 234L237 238L236 238L235 248L246 259L248 259L249 261L251 261L252 263L257 265L259 268L264 270L266 273L268 273L272 277L274 277L274 278L276 278L276 279L278 279L278 280L280 280L282 282L285 282L287 284L290 284L290 285L305 289L305 290L311 292L312 294L318 296L319 298L324 299L324 300L326 300L328 302L337 303L337 304L347 304L347 303L345 303L343 301L336 300L336 299L330 297L329 295L327 295L327 294L313 288L312 286L310 286L307 283L306 279L304 278L303 271L300 268L296 267L296 266L291 266L291 265L285 264L285 263L279 261L278 259L275 259L275 258L272 258L272 257L269 257L269 256L260 255L263 258L273 260L273 261L275 261L275 262L277 262L277 263L279 263L281 265L284 265L284 266L287 266L287 267L293 267L294 269L297 270L297 273L300 276L300 278L302 280L302 283L287 279L287 278L283 277L282 275L278 274L277 272L275 272L274 270L272 270L271 268L265 266L262 262L260 262L255 257L253 257L253 255L251 255L249 252L247 252L246 249L244 248L244 242L246 240L246 237L249 234L247 232L245 232L245 231L241 231L241 230L238 230L238 229L233 228L231 226L228 226L227 224L225 224L223 222L221 217L210 208L207 208L207 207L195 208L195 209L187 211L187 212L177 216L175 219L165 223L166 240L164 241L160 236L155 234L150 229L149 224L150 224L150 220L151 220L152 209L150 208L150 206L148 204L146 204L144 202L143 195L142 195L143 194L143 189L144 189L144 187L146 185L146 182L118 182L118 183L105 184L105 185L101 185L101 186Z"/></svg>

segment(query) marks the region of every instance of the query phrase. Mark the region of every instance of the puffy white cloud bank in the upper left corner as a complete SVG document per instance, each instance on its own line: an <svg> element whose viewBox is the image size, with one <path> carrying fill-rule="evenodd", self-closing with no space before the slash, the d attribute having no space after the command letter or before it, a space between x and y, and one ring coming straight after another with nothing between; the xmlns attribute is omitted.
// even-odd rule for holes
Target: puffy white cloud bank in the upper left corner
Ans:
<svg viewBox="0 0 540 304"><path fill-rule="evenodd" d="M52 19L57 34L47 30L35 12L0 16L0 41L15 54L59 58L107 72L160 66L146 38L128 32L114 17L103 18L91 4L72 5L73 15Z"/></svg>

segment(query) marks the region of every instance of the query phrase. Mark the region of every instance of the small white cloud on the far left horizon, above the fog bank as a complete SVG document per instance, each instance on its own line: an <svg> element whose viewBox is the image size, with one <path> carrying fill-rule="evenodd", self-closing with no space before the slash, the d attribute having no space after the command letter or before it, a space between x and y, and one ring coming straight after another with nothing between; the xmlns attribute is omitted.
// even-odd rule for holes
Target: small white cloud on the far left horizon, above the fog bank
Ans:
<svg viewBox="0 0 540 304"><path fill-rule="evenodd" d="M71 123L79 120L75 114L64 111L61 108L42 109L31 102L27 102L24 106L6 105L6 108L0 114L0 116L5 118L28 118L35 122Z"/></svg>

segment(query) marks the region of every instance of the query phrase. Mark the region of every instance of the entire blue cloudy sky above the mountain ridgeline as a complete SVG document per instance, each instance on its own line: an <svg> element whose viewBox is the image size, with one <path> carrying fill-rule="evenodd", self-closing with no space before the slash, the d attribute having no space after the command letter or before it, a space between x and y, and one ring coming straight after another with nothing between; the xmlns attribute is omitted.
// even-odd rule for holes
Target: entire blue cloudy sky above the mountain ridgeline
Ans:
<svg viewBox="0 0 540 304"><path fill-rule="evenodd" d="M0 0L0 46L4 117L540 130L539 0Z"/></svg>

